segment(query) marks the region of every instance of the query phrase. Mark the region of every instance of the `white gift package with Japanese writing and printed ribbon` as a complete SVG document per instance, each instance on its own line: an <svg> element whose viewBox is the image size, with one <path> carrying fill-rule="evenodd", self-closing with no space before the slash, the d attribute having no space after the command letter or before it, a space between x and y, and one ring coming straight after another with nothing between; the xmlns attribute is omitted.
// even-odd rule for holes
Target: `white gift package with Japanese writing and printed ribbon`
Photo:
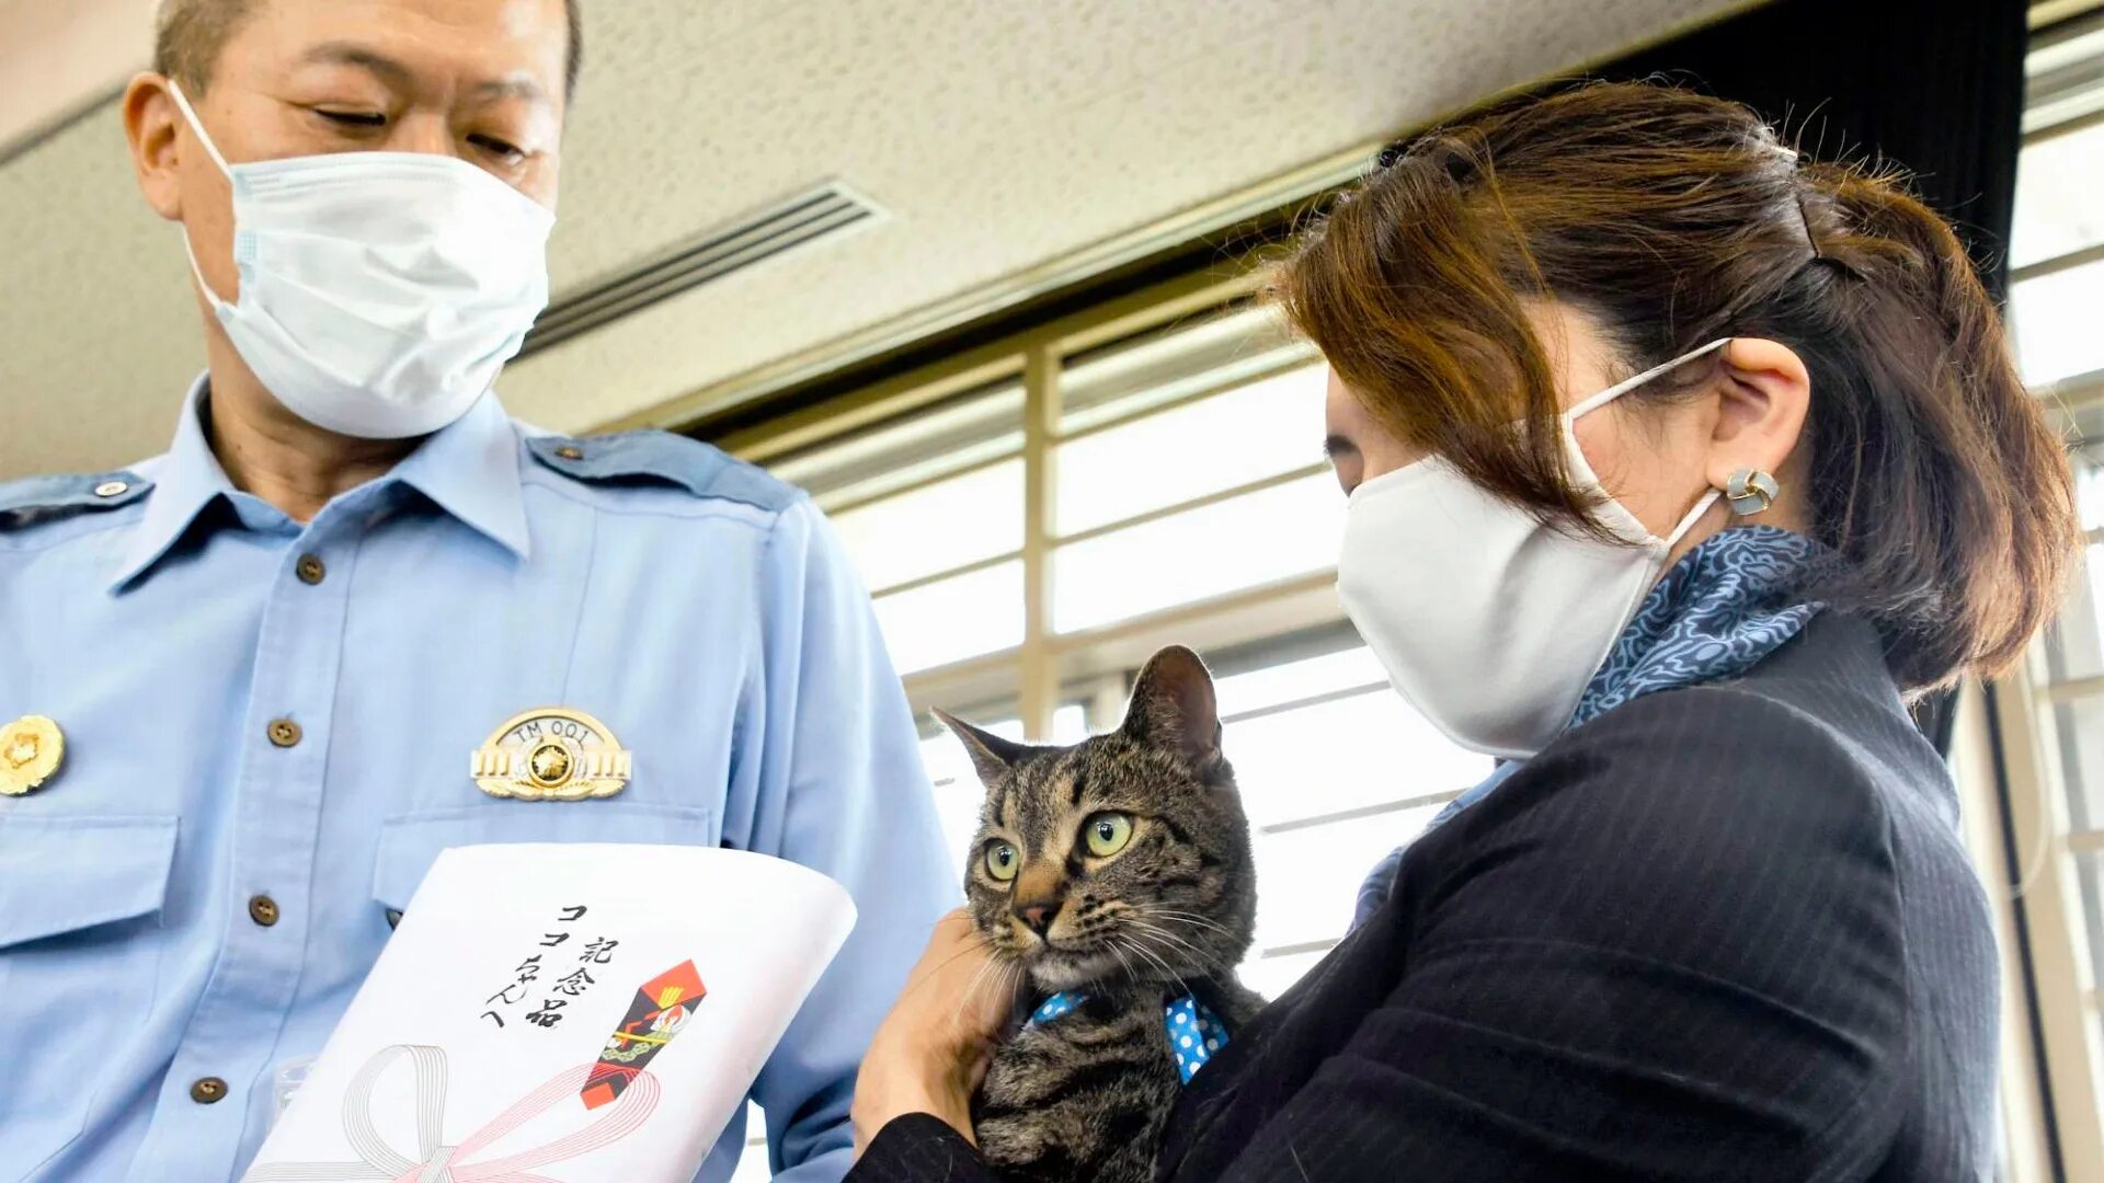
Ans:
<svg viewBox="0 0 2104 1183"><path fill-rule="evenodd" d="M244 1183L688 1183L854 928L795 863L459 846Z"/></svg>

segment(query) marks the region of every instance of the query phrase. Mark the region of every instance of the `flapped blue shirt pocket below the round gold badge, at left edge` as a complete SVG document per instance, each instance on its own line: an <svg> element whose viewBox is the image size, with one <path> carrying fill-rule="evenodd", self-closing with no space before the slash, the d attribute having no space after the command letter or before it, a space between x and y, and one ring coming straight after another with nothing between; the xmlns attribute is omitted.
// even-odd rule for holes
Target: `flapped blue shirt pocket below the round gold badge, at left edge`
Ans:
<svg viewBox="0 0 2104 1183"><path fill-rule="evenodd" d="M175 817L0 817L0 1160L74 1141L109 1074L137 1065L160 973Z"/></svg>

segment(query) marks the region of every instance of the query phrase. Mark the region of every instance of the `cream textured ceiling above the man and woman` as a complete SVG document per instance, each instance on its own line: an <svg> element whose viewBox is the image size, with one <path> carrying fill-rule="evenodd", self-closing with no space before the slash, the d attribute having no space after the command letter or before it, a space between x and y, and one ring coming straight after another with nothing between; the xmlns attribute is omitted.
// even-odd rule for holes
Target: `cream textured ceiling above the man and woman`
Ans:
<svg viewBox="0 0 2104 1183"><path fill-rule="evenodd" d="M507 370L507 406L564 432L720 406L785 364L1029 295L1742 0L585 4L558 295L825 179L888 217ZM0 0L0 25L19 8ZM0 76L38 48L13 44ZM114 103L0 164L0 480L158 453L202 347Z"/></svg>

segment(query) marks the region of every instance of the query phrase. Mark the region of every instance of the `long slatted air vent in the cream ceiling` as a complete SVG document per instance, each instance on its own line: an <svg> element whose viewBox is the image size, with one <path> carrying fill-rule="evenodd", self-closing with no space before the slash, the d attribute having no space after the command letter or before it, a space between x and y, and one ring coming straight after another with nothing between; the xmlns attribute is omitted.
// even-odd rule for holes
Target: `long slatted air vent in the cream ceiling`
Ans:
<svg viewBox="0 0 2104 1183"><path fill-rule="evenodd" d="M871 221L877 213L877 206L854 189L827 181L816 189L705 229L619 276L558 295L534 322L532 333L526 335L520 356L560 345L732 272L831 238L850 225Z"/></svg>

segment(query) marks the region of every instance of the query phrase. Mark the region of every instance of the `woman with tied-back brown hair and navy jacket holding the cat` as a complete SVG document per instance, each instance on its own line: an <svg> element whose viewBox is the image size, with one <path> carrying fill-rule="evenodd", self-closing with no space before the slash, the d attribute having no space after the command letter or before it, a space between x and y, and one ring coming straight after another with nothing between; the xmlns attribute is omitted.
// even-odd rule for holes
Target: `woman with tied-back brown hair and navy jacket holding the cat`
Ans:
<svg viewBox="0 0 2104 1183"><path fill-rule="evenodd" d="M1334 370L1344 606L1504 762L1231 1031L1159 1177L1990 1177L1988 905L1904 703L2022 653L2075 512L1950 227L1599 84L1387 154L1275 297ZM947 924L877 1034L856 1179L993 1177L983 958Z"/></svg>

